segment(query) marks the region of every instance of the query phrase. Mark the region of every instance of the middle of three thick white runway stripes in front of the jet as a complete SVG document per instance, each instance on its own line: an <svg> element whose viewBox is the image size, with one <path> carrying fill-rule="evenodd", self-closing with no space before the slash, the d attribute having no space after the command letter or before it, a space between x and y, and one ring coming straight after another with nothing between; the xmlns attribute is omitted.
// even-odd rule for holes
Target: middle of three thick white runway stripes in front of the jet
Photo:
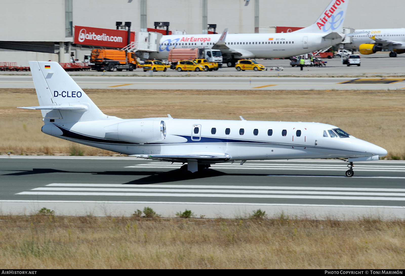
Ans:
<svg viewBox="0 0 405 276"><path fill-rule="evenodd" d="M367 195L367 196L397 196L405 197L405 193L394 192L313 192L313 191L264 191L264 190L191 190L191 189L135 189L135 188L50 188L40 187L31 190L53 190L53 191L98 191L98 192L223 192L223 193L246 193L246 194L346 194L346 195ZM170 195L170 194L169 194ZM404 198L405 199L405 198Z"/></svg>

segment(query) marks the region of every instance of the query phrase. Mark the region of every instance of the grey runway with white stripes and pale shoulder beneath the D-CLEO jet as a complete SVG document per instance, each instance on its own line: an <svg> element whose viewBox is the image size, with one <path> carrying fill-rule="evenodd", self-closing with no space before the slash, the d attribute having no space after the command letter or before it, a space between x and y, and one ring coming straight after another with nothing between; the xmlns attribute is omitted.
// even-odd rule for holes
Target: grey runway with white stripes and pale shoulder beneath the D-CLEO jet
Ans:
<svg viewBox="0 0 405 276"><path fill-rule="evenodd" d="M336 160L224 163L189 178L179 176L181 164L132 157L1 156L0 164L2 212L32 212L51 204L63 214L83 213L86 206L103 215L102 205L104 215L106 206L118 215L153 206L166 216L189 207L208 217L255 208L405 217L405 161L359 162L352 178Z"/></svg>

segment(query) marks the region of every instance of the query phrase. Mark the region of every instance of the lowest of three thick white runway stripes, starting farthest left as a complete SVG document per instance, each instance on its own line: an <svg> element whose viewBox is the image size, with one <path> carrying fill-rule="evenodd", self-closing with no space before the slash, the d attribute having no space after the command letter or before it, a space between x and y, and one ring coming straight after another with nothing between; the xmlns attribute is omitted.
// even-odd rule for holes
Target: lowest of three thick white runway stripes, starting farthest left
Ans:
<svg viewBox="0 0 405 276"><path fill-rule="evenodd" d="M132 197L238 197L267 199L339 199L339 200L389 200L405 201L401 197L337 197L337 196L300 196L277 194L167 194L167 193L131 193L131 192L19 192L29 195L74 195L74 196L132 196Z"/></svg>

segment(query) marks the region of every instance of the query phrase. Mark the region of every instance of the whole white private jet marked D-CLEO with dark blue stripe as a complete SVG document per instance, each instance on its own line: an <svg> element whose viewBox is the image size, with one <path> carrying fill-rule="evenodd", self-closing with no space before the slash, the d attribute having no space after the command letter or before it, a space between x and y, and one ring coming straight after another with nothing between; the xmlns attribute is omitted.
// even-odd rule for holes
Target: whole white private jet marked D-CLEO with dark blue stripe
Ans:
<svg viewBox="0 0 405 276"><path fill-rule="evenodd" d="M120 119L105 115L56 62L30 61L42 132L130 156L187 163L189 174L210 164L241 160L348 158L378 160L387 151L334 125L309 122L162 118Z"/></svg>

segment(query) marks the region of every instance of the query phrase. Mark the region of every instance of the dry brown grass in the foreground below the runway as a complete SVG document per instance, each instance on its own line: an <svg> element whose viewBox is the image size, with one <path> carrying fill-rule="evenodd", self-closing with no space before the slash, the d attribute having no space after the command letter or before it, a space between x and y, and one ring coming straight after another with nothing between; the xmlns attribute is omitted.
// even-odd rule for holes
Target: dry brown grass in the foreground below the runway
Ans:
<svg viewBox="0 0 405 276"><path fill-rule="evenodd" d="M0 217L3 268L405 268L405 222Z"/></svg>

